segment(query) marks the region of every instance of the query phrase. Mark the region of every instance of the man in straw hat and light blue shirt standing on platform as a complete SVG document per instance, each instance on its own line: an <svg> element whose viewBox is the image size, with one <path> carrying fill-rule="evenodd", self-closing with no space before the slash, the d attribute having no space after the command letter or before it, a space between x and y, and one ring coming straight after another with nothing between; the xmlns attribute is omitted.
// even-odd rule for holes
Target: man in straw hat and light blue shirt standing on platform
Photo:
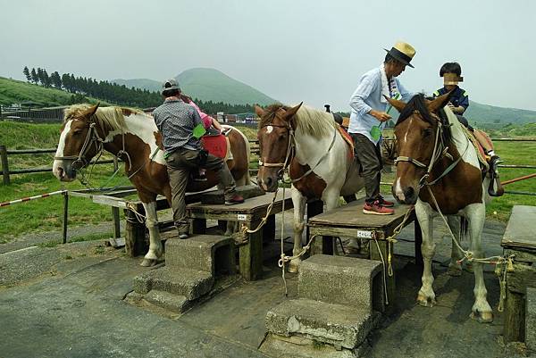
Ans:
<svg viewBox="0 0 536 358"><path fill-rule="evenodd" d="M356 158L361 163L366 191L363 212L389 215L394 212L394 203L380 195L381 181L381 129L391 119L390 106L384 96L409 101L413 94L402 87L397 77L406 69L414 67L410 62L415 48L398 42L387 54L379 68L366 72L359 80L356 91L350 98L350 123L348 133L355 143Z"/></svg>

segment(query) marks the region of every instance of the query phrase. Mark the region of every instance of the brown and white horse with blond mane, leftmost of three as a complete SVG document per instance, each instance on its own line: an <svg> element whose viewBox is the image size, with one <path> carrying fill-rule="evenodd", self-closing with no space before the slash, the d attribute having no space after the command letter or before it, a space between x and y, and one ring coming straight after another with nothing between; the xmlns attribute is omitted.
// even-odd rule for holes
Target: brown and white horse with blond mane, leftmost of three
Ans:
<svg viewBox="0 0 536 358"><path fill-rule="evenodd" d="M247 185L250 182L249 142L239 129L224 127L230 129L232 154L227 165L237 186ZM55 177L62 181L74 180L76 171L87 166L103 148L125 162L125 171L138 191L150 237L149 251L141 264L154 265L163 253L155 200L157 195L165 196L171 206L172 190L163 159L162 137L153 117L121 107L98 108L98 104L67 108L54 157ZM218 184L214 172L207 171L206 176L205 182L188 182L187 191L202 191Z"/></svg>

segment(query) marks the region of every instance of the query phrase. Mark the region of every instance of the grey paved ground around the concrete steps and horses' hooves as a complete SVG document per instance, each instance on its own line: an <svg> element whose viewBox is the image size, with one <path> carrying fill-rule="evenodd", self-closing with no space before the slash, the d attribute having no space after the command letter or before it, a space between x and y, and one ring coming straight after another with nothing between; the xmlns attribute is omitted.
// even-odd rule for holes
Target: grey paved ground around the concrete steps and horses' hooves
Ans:
<svg viewBox="0 0 536 358"><path fill-rule="evenodd" d="M500 253L504 227L486 225L488 254ZM412 240L412 228L400 237ZM512 356L500 345L497 279L486 273L495 321L472 321L473 274L446 275L449 250L444 237L434 268L438 305L424 308L415 305L420 271L406 258L413 243L397 244L399 299L373 332L367 356ZM132 290L132 278L147 269L101 241L5 251L0 254L1 357L261 357L256 348L264 338L265 312L286 299L276 259L265 262L265 279L239 281L177 317L127 304L123 298ZM296 297L296 276L287 278L289 297Z"/></svg>

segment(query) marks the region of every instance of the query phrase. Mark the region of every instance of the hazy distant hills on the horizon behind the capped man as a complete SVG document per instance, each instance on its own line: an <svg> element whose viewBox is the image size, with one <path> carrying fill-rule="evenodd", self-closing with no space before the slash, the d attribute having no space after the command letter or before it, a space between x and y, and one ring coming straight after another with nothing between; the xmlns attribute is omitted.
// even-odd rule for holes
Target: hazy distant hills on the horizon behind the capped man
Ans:
<svg viewBox="0 0 536 358"><path fill-rule="evenodd" d="M190 69L175 77L180 88L188 96L203 101L223 102L226 104L272 104L273 98L264 95L254 87L231 79L214 69ZM113 82L126 87L138 87L150 91L160 91L162 83L152 79L113 79Z"/></svg>

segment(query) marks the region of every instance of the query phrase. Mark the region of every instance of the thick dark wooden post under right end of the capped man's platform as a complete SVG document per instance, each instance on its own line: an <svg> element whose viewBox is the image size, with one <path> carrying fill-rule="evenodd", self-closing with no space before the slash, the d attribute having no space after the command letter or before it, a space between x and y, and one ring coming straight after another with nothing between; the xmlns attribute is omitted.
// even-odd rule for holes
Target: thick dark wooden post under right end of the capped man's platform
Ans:
<svg viewBox="0 0 536 358"><path fill-rule="evenodd" d="M259 220L247 222L248 229L255 229ZM246 245L239 246L240 275L247 281L263 277L263 230L248 234Z"/></svg>

